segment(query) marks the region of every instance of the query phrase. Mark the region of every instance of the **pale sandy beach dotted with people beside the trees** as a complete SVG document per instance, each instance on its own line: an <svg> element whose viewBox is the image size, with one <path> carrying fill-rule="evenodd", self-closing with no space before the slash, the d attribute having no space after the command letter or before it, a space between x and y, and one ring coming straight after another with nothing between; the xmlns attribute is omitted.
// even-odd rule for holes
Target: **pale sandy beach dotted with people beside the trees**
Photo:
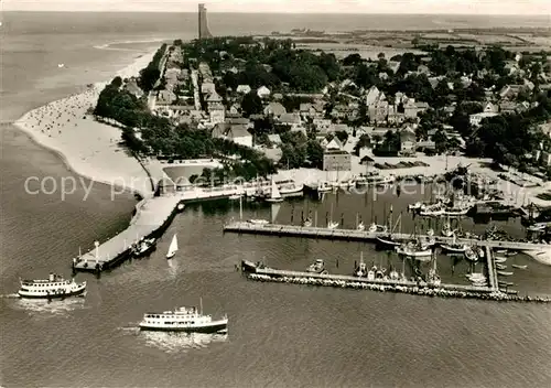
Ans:
<svg viewBox="0 0 551 388"><path fill-rule="evenodd" d="M116 75L137 76L154 52L138 57ZM115 75L114 75L115 76ZM109 80L110 82L110 80ZM151 195L151 183L140 163L119 146L121 131L87 115L96 106L107 82L33 109L14 125L39 144L58 153L67 166L96 182Z"/></svg>

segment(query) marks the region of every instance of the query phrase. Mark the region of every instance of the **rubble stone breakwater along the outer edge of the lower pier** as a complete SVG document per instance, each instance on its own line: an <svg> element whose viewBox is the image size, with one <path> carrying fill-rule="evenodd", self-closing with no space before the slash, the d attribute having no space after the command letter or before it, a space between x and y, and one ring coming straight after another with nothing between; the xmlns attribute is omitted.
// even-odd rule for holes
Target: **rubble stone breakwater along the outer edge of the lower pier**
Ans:
<svg viewBox="0 0 551 388"><path fill-rule="evenodd" d="M402 284L377 284L377 283L366 283L366 282L355 282L345 280L332 280L332 279L317 279L317 278L296 278L296 277L270 277L268 274L260 273L249 273L247 278L256 281L270 281L278 283L292 283L292 284L305 284L305 285L321 285L321 287L339 287L349 288L356 290L371 290L379 292L401 292L415 295L424 297L440 297L440 298L462 298L462 299L482 299L491 301L514 301L514 302L537 302L537 303L549 303L551 298L547 297L520 297L510 295L501 291L491 292L472 292L472 291L458 291L458 290L446 290L439 288L437 285L425 287L425 285L402 285Z"/></svg>

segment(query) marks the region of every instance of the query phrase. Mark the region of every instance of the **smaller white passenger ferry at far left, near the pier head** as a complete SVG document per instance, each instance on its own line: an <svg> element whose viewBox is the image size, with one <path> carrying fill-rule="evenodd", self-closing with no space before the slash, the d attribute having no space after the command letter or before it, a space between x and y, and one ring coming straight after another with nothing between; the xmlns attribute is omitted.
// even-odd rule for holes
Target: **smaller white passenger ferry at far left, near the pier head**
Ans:
<svg viewBox="0 0 551 388"><path fill-rule="evenodd" d="M75 279L65 280L55 273L50 273L48 279L20 280L20 298L29 299L61 299L80 295L86 291L86 282L76 283Z"/></svg>

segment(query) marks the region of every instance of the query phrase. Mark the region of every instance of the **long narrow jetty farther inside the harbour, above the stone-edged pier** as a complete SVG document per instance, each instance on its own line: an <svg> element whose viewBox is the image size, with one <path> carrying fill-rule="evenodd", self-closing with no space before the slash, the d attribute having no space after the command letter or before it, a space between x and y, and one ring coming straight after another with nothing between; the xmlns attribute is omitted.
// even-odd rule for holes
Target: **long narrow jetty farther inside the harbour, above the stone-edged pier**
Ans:
<svg viewBox="0 0 551 388"><path fill-rule="evenodd" d="M313 226L296 226L283 224L253 224L250 222L233 222L224 226L224 231L251 234L251 235L268 235L277 237L300 237L300 238L320 238L329 240L345 241L375 241L377 237L387 236L388 233L357 229L329 229L325 227ZM392 237L397 240L409 240L411 234L393 233ZM420 235L419 237L434 237L437 242L452 242L453 237L428 236ZM475 245L478 247L504 248L515 250L544 250L549 249L549 245L533 242L517 242L517 241L497 241L497 240L479 240L474 238L455 238L457 244Z"/></svg>

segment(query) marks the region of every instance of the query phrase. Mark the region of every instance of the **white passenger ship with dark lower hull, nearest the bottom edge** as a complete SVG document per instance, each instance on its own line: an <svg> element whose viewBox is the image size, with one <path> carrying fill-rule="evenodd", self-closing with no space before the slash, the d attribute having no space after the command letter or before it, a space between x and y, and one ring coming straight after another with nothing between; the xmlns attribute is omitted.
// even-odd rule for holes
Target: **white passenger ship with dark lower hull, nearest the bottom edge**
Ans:
<svg viewBox="0 0 551 388"><path fill-rule="evenodd" d="M228 327L228 317L224 315L213 320L197 308L180 308L162 313L147 313L140 322L140 330L160 332L216 333Z"/></svg>

